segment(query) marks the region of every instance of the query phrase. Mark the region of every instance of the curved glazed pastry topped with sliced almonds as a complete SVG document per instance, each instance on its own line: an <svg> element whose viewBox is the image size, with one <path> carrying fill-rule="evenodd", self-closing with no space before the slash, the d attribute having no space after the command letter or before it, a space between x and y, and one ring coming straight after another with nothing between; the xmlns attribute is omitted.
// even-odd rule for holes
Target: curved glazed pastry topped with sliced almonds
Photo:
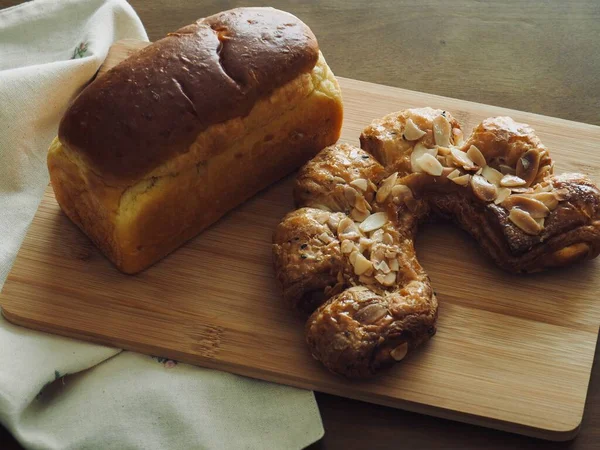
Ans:
<svg viewBox="0 0 600 450"><path fill-rule="evenodd" d="M553 175L529 126L497 117L462 137L448 112L410 109L374 121L362 149L328 147L300 170L300 209L275 231L274 264L331 371L374 375L435 334L438 303L413 245L430 215L452 218L510 272L600 252L600 191Z"/></svg>

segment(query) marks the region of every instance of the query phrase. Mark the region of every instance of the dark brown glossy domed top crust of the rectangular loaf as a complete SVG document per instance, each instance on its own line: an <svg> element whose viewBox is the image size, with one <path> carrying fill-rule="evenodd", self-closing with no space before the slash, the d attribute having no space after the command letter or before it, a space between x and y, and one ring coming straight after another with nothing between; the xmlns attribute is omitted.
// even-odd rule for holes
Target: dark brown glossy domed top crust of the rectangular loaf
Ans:
<svg viewBox="0 0 600 450"><path fill-rule="evenodd" d="M210 125L309 72L317 40L297 17L238 8L170 33L85 88L59 139L96 174L135 180L186 151Z"/></svg>

